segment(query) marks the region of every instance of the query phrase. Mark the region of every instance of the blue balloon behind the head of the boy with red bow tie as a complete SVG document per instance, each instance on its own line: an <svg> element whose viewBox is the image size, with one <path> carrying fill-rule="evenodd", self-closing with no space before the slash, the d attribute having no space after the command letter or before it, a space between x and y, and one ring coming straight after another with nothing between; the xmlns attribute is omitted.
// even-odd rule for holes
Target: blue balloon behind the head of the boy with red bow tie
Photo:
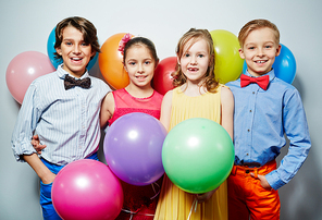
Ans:
<svg viewBox="0 0 322 220"><path fill-rule="evenodd" d="M273 69L276 77L285 81L286 83L292 84L295 74L296 74L296 60L292 51L285 46L282 45L281 53L275 58L273 63ZM246 61L244 61L243 73L247 70Z"/></svg>

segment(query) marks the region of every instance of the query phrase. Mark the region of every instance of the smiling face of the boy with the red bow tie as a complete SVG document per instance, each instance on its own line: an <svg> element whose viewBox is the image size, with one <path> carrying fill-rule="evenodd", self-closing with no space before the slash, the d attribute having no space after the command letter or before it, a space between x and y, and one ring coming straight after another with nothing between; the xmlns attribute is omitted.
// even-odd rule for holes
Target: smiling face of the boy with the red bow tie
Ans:
<svg viewBox="0 0 322 220"><path fill-rule="evenodd" d="M269 27L250 32L239 49L240 58L245 59L247 70L253 76L270 72L280 52L281 45L276 42L274 30Z"/></svg>

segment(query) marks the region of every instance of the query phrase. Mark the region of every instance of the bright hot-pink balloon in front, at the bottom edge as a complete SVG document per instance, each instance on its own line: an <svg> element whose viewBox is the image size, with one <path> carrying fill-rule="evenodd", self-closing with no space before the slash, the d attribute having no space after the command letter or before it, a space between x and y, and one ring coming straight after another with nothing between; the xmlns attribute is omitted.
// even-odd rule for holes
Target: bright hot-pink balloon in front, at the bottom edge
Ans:
<svg viewBox="0 0 322 220"><path fill-rule="evenodd" d="M112 220L123 206L119 179L102 162L83 159L71 162L55 176L52 204L64 220Z"/></svg>

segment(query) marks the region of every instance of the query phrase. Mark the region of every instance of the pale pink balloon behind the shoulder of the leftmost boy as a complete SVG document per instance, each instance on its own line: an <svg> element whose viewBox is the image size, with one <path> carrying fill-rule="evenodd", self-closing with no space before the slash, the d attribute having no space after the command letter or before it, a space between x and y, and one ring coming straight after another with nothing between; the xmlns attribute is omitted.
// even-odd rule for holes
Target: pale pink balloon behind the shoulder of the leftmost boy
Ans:
<svg viewBox="0 0 322 220"><path fill-rule="evenodd" d="M37 51L26 51L14 57L7 68L7 86L13 98L22 103L30 83L55 71L49 57Z"/></svg>

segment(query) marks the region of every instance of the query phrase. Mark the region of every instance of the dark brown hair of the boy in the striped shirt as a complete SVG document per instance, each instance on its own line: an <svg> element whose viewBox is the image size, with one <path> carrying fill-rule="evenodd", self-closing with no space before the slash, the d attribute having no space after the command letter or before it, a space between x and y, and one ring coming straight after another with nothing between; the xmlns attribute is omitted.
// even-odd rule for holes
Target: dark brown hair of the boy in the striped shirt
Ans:
<svg viewBox="0 0 322 220"><path fill-rule="evenodd" d="M91 46L92 52L95 53L100 52L100 46L97 38L96 27L88 20L79 16L71 16L71 17L64 19L63 21L57 24L55 44L54 44L55 49L61 46L63 41L63 30L67 26L73 26L83 34L84 41ZM62 59L62 57L58 52L54 52L53 54L55 59L59 59L59 60ZM95 56L92 56L90 59L92 59Z"/></svg>

